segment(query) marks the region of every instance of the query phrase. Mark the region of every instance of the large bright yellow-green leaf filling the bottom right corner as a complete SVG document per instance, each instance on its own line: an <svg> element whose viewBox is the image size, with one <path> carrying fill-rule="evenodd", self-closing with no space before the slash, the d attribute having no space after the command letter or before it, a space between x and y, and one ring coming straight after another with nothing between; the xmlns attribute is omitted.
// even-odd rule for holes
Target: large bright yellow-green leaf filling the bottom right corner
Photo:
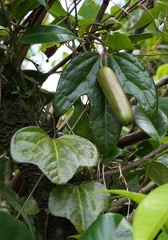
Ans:
<svg viewBox="0 0 168 240"><path fill-rule="evenodd" d="M151 240L167 221L168 184L152 192L138 205L133 220L134 240Z"/></svg>

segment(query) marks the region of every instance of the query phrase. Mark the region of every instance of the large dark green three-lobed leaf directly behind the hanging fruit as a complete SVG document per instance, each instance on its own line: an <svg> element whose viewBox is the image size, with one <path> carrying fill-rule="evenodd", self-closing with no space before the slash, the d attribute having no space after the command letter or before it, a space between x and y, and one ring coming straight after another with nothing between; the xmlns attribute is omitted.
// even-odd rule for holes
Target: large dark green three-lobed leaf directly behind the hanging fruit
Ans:
<svg viewBox="0 0 168 240"><path fill-rule="evenodd" d="M108 57L107 60L124 91L135 96L148 116L153 117L157 111L157 94L153 80L143 65L131 54L124 53ZM94 141L104 157L109 157L117 145L121 125L114 117L96 79L99 61L98 54L86 52L66 66L58 82L54 110L57 116L61 116L80 96L88 95Z"/></svg>

